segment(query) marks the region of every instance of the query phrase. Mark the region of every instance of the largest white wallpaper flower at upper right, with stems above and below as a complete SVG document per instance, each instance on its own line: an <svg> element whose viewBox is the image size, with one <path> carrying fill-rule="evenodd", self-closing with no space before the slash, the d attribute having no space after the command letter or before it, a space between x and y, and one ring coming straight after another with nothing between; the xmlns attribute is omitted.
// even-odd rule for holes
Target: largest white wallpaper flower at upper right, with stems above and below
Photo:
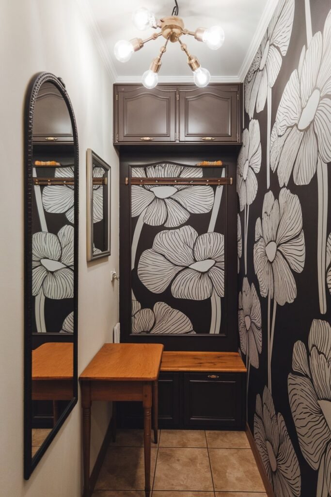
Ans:
<svg viewBox="0 0 331 497"><path fill-rule="evenodd" d="M318 291L320 312L326 306L326 242L328 171L331 162L331 10L312 37L310 3L306 0L307 50L303 46L298 69L283 91L271 132L270 166L279 185L287 185L293 171L297 185L307 185L317 171Z"/></svg>

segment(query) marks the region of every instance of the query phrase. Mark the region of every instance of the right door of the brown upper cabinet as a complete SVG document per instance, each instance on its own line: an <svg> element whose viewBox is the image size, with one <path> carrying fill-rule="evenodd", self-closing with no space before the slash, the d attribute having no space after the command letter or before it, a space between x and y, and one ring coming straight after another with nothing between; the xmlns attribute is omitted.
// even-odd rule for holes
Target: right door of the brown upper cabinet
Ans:
<svg viewBox="0 0 331 497"><path fill-rule="evenodd" d="M239 86L179 87L180 141L239 142Z"/></svg>

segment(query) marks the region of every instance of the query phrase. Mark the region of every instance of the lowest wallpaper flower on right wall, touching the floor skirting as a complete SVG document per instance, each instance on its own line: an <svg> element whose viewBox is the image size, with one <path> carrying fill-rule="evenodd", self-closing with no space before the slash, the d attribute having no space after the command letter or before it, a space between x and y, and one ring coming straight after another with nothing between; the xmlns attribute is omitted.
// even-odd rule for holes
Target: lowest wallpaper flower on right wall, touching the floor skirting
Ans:
<svg viewBox="0 0 331 497"><path fill-rule="evenodd" d="M265 387L263 399L256 399L254 438L275 497L299 497L301 475L282 414L276 414L272 397Z"/></svg>

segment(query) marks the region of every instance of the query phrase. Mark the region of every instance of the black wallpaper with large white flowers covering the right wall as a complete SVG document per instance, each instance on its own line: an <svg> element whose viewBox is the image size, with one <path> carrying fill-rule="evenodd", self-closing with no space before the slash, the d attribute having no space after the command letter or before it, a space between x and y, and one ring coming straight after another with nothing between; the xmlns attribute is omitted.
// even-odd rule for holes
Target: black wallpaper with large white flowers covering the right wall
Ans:
<svg viewBox="0 0 331 497"><path fill-rule="evenodd" d="M244 90L238 326L248 423L276 497L330 497L330 1L278 1Z"/></svg>

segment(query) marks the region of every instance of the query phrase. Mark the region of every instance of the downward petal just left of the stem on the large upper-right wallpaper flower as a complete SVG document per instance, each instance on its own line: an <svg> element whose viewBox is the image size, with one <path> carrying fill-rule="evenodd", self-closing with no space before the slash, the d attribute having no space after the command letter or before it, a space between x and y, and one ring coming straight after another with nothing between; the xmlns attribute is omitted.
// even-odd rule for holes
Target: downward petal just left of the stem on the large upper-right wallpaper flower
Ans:
<svg viewBox="0 0 331 497"><path fill-rule="evenodd" d="M318 160L318 144L314 127L304 131L299 152L294 164L293 179L296 185L308 185L314 176Z"/></svg>

